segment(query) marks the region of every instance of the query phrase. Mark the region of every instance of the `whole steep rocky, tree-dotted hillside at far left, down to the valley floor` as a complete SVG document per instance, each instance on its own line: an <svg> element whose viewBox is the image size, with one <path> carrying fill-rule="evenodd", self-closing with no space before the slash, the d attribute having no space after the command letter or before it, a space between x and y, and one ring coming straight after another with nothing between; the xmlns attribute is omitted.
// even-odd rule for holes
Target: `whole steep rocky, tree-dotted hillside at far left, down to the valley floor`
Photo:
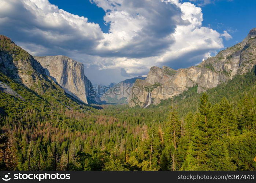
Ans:
<svg viewBox="0 0 256 183"><path fill-rule="evenodd" d="M10 38L1 35L0 91L13 97L14 101L27 102L31 106L39 102L50 106L62 105L68 109L92 110L88 105L66 93L47 75L45 69L33 56L17 46ZM1 97L5 100L3 96Z"/></svg>

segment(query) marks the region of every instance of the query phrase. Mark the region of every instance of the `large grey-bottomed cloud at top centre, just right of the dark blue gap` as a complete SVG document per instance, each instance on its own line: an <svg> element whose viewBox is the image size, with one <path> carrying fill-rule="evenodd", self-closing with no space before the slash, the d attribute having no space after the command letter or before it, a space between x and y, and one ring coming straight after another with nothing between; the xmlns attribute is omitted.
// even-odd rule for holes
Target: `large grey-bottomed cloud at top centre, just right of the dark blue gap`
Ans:
<svg viewBox="0 0 256 183"><path fill-rule="evenodd" d="M155 0L91 0L106 12L110 33L96 48L104 56L149 57L163 53L174 42L177 25L186 25L174 3Z"/></svg>

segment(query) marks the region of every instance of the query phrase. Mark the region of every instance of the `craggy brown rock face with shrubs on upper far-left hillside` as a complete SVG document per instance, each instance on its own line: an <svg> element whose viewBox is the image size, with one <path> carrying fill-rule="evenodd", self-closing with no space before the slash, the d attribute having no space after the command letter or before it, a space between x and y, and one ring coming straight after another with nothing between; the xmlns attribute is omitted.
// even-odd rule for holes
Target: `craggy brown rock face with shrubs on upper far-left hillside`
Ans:
<svg viewBox="0 0 256 183"><path fill-rule="evenodd" d="M40 63L5 36L0 36L0 71L40 95L54 87Z"/></svg>

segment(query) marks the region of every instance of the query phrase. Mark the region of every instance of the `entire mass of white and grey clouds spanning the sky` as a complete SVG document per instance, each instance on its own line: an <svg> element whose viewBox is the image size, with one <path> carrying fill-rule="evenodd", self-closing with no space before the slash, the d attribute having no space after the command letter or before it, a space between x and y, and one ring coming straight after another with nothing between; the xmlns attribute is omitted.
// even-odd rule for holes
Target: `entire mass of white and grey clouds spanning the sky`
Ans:
<svg viewBox="0 0 256 183"><path fill-rule="evenodd" d="M179 0L90 0L103 8L109 33L48 0L0 0L0 34L33 55L67 55L86 68L147 74L152 66L189 67L223 48L224 37L203 27L200 7Z"/></svg>

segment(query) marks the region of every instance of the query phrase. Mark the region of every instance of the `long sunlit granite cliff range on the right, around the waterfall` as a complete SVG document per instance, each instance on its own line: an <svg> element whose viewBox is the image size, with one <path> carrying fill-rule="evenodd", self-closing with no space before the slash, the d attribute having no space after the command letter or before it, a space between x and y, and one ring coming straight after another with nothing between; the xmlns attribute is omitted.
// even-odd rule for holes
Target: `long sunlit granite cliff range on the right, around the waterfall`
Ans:
<svg viewBox="0 0 256 183"><path fill-rule="evenodd" d="M232 79L237 74L245 74L255 65L256 28L252 29L242 42L220 51L216 56L209 57L198 66L177 71L168 67L152 67L145 81L135 82L134 87L140 88L142 92L140 94L131 92L129 106L146 107L148 101L159 104L160 100L171 98L196 85L197 92L200 93ZM149 100L149 91L151 100Z"/></svg>

